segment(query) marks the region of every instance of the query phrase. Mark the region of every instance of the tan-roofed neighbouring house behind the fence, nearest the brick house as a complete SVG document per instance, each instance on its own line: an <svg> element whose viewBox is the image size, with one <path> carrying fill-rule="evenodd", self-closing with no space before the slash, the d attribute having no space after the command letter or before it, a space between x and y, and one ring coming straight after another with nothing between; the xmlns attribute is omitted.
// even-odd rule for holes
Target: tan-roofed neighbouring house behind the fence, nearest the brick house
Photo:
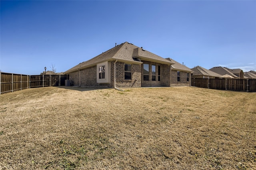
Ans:
<svg viewBox="0 0 256 170"><path fill-rule="evenodd" d="M221 76L220 74L201 66L195 66L194 68L191 68L191 70L193 71L192 78L219 78Z"/></svg>

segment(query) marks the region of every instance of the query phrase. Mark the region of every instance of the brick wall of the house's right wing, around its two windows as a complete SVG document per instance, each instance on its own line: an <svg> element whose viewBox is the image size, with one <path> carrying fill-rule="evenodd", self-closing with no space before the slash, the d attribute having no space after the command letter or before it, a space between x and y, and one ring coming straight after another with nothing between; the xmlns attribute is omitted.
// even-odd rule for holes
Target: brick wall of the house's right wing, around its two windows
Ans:
<svg viewBox="0 0 256 170"><path fill-rule="evenodd" d="M171 86L190 86L190 82L187 82L187 72L180 71L180 81L178 82L177 70L171 70Z"/></svg>

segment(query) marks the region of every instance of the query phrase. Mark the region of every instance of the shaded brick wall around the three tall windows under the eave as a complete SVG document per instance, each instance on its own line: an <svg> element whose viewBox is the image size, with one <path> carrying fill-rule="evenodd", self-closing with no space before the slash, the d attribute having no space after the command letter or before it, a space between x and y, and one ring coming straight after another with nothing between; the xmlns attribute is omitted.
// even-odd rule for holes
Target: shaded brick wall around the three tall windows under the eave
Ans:
<svg viewBox="0 0 256 170"><path fill-rule="evenodd" d="M141 64L141 86L142 87L161 87L170 86L170 65L154 63L150 61L142 61L143 64L149 64L149 80L143 80L144 68ZM152 81L152 65L156 66L156 81ZM158 81L158 66L160 66L160 81Z"/></svg>

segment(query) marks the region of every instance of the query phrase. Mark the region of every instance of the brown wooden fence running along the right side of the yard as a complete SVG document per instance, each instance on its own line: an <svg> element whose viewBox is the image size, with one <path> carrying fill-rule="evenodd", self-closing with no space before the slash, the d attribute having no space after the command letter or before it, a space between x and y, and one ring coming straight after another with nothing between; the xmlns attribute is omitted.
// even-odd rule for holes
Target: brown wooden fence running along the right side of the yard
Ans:
<svg viewBox="0 0 256 170"><path fill-rule="evenodd" d="M256 92L256 79L192 78L191 86L218 90Z"/></svg>

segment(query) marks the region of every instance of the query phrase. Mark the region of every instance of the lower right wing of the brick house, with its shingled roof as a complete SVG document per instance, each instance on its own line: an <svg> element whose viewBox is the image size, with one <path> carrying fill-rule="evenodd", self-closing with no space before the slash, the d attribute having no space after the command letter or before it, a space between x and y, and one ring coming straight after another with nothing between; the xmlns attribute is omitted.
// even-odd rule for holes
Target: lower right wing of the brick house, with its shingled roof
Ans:
<svg viewBox="0 0 256 170"><path fill-rule="evenodd" d="M171 65L171 86L191 86L191 73L190 68L178 63L174 59L167 58Z"/></svg>

